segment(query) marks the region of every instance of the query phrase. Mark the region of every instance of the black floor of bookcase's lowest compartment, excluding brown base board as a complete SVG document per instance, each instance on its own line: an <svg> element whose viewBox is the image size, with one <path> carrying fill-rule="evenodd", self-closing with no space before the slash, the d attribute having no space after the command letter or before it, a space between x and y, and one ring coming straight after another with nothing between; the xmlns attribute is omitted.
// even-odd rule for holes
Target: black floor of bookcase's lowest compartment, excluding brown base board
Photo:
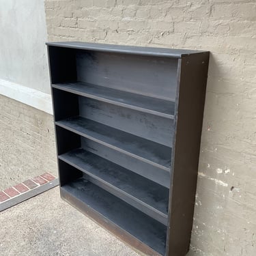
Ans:
<svg viewBox="0 0 256 256"><path fill-rule="evenodd" d="M167 227L84 178L61 187L88 208L164 255Z"/></svg>

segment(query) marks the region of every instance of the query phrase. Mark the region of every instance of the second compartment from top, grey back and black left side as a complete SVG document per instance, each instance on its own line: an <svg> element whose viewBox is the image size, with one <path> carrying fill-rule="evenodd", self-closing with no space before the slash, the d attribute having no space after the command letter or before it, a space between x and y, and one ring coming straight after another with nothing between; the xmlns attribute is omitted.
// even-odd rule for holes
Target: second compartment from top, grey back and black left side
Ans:
<svg viewBox="0 0 256 256"><path fill-rule="evenodd" d="M172 146L173 119L115 106L56 88L53 88L53 100L55 121L79 115L169 148Z"/></svg>

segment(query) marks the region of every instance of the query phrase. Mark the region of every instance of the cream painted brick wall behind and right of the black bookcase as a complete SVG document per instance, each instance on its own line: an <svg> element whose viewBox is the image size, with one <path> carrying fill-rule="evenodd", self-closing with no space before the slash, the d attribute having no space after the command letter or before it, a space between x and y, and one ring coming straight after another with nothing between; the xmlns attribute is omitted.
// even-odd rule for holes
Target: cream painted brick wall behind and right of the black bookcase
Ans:
<svg viewBox="0 0 256 256"><path fill-rule="evenodd" d="M255 0L46 0L45 8L49 41L211 51L189 254L256 255Z"/></svg>

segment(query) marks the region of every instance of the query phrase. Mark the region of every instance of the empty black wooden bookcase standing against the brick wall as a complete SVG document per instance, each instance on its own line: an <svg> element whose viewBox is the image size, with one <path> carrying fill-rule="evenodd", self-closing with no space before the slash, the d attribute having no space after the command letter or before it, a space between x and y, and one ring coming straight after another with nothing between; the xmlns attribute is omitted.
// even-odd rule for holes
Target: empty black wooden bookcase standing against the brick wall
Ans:
<svg viewBox="0 0 256 256"><path fill-rule="evenodd" d="M186 255L209 52L46 44L61 198L147 255Z"/></svg>

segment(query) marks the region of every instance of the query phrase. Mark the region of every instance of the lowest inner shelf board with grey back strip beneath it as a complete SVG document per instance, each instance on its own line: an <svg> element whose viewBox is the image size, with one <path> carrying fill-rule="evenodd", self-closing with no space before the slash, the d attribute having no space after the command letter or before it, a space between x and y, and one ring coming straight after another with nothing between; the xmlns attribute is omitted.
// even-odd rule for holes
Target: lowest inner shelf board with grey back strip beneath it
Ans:
<svg viewBox="0 0 256 256"><path fill-rule="evenodd" d="M59 156L87 179L167 225L169 189L91 152L76 149Z"/></svg>

